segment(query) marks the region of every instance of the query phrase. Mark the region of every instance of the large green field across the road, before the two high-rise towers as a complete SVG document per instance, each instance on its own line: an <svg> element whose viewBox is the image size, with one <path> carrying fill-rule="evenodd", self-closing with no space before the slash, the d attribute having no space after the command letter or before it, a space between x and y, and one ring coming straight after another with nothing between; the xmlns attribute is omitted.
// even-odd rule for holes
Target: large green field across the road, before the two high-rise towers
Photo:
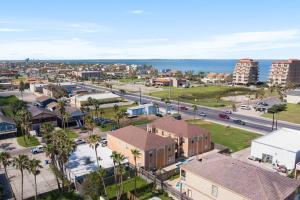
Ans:
<svg viewBox="0 0 300 200"><path fill-rule="evenodd" d="M217 101L218 97L243 95L253 93L245 87L231 87L231 86L199 86L191 88L171 88L171 99L187 103L199 104L209 107L223 107L231 105L231 101ZM151 96L159 98L168 98L169 90L153 92Z"/></svg>

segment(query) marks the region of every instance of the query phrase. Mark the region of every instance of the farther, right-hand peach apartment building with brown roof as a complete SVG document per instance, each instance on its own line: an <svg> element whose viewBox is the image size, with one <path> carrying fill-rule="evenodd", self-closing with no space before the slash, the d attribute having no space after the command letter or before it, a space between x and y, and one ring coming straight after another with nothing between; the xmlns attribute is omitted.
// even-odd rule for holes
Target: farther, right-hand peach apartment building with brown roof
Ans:
<svg viewBox="0 0 300 200"><path fill-rule="evenodd" d="M191 157L211 150L209 131L173 117L163 117L147 125L147 131L176 142L176 157Z"/></svg>

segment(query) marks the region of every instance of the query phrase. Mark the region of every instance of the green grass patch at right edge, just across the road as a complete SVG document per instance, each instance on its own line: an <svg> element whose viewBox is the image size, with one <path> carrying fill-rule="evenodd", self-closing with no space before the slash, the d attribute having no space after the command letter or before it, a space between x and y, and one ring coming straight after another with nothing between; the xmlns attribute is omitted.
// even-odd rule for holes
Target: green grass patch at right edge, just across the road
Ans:
<svg viewBox="0 0 300 200"><path fill-rule="evenodd" d="M265 113L262 116L270 119L273 118L273 114L271 113ZM287 109L276 113L275 118L282 121L300 124L300 105L288 103Z"/></svg>

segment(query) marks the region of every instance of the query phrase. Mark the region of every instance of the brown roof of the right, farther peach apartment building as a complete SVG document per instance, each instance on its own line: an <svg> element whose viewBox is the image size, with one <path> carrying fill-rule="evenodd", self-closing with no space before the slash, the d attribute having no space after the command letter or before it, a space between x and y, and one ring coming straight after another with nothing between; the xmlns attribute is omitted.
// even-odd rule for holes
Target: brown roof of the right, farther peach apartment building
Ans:
<svg viewBox="0 0 300 200"><path fill-rule="evenodd" d="M196 125L188 124L183 120L177 120L173 117L163 117L148 124L148 127L159 128L176 134L179 137L192 138L210 134L208 130L199 128Z"/></svg>

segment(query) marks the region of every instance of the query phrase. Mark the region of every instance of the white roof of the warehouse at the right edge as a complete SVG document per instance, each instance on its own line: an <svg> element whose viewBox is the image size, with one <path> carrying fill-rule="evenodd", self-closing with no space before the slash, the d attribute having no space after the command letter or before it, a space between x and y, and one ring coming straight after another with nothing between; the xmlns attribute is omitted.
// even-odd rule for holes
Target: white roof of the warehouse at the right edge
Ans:
<svg viewBox="0 0 300 200"><path fill-rule="evenodd" d="M253 142L285 149L292 152L300 151L300 131L281 128L268 135L257 138Z"/></svg>

